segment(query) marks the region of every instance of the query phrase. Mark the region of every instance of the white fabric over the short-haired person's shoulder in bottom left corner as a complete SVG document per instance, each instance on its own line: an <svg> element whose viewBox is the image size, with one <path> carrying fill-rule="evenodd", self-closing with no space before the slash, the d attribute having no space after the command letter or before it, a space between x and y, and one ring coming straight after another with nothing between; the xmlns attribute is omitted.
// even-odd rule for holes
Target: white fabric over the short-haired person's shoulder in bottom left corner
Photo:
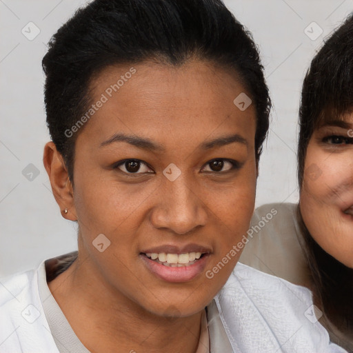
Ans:
<svg viewBox="0 0 353 353"><path fill-rule="evenodd" d="M0 351L58 353L39 296L37 270L0 279Z"/></svg>

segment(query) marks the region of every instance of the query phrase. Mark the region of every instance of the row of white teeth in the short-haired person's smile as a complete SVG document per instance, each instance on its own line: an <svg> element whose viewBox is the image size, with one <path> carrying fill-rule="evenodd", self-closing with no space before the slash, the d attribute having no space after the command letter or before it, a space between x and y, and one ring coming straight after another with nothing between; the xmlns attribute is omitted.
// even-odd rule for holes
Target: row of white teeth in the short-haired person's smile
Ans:
<svg viewBox="0 0 353 353"><path fill-rule="evenodd" d="M182 268L194 265L194 263L199 261L205 255L205 253L202 252L186 252L185 254L166 254L165 252L159 254L142 254L152 261L171 268Z"/></svg>

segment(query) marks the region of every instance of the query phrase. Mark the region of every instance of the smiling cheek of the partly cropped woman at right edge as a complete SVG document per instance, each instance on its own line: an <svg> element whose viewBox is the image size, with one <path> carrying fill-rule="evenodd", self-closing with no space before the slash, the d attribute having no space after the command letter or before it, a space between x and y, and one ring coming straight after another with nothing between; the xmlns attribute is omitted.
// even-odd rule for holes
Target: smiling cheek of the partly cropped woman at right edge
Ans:
<svg viewBox="0 0 353 353"><path fill-rule="evenodd" d="M346 188L353 175L351 158L347 152L308 149L300 196L307 230L323 250L339 261L353 246L352 225L342 214L343 204L352 199L352 188Z"/></svg>

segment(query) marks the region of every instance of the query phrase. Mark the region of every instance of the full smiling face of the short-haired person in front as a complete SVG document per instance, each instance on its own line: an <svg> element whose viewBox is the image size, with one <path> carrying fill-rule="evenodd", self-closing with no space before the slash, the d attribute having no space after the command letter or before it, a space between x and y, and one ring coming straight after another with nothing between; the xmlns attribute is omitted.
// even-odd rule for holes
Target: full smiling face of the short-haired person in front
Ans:
<svg viewBox="0 0 353 353"><path fill-rule="evenodd" d="M235 77L191 61L114 66L95 79L95 112L75 147L74 208L97 291L187 316L227 281L256 185L255 109L233 103L245 92Z"/></svg>

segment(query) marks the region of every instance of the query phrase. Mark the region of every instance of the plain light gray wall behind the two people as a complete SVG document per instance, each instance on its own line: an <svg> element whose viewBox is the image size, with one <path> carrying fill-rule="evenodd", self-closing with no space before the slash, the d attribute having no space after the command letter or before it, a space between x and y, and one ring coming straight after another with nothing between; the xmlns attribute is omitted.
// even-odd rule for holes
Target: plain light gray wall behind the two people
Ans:
<svg viewBox="0 0 353 353"><path fill-rule="evenodd" d="M0 276L34 268L43 259L77 248L77 227L61 217L42 163L49 135L41 58L52 34L83 3L0 0ZM352 12L353 0L225 3L259 45L274 103L270 135L261 157L256 205L296 202L301 81L325 36ZM310 25L313 21L316 24ZM36 28L28 25L30 22L40 30L32 40L27 37L34 36ZM307 26L311 39L305 34ZM35 168L28 167L30 163ZM25 177L28 168L34 174Z"/></svg>

